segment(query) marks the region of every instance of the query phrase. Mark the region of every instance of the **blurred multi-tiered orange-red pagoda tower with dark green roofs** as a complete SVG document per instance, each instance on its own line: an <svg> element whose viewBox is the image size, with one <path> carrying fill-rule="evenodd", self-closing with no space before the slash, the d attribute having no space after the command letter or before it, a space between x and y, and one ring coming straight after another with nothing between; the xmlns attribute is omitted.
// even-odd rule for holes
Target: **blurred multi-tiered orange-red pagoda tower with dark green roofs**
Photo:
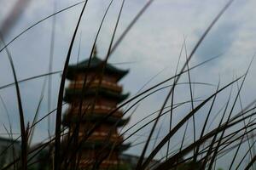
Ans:
<svg viewBox="0 0 256 170"><path fill-rule="evenodd" d="M128 97L128 94L122 94L122 87L118 84L128 71L110 64L103 66L96 50L88 64L89 59L86 59L68 67L67 79L70 83L64 100L69 108L63 117L63 125L68 127L72 136L79 124L79 169L90 169L96 164L98 169L118 169L119 154L129 147L129 144L122 144L123 137L119 135L118 128L129 119L123 118L122 111L113 110ZM111 111L113 114L106 119ZM100 125L88 139L84 139L97 122L101 122ZM73 150L72 146L68 148Z"/></svg>

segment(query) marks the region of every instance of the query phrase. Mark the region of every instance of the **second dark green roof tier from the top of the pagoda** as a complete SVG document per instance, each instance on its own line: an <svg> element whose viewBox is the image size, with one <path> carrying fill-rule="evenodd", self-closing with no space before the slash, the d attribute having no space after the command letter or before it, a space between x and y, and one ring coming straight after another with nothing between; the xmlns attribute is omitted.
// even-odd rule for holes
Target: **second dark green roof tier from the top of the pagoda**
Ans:
<svg viewBox="0 0 256 170"><path fill-rule="evenodd" d="M72 98L74 96L80 96L82 94L83 89L73 89L73 88L67 88L66 94L64 97L64 100L67 102L72 102ZM106 88L89 88L84 91L84 97L87 96L96 96L96 93L98 93L101 96L104 96L108 99L114 99L118 102L122 102L123 100L127 99L129 94L119 94L116 92L113 92L111 90L108 90Z"/></svg>

